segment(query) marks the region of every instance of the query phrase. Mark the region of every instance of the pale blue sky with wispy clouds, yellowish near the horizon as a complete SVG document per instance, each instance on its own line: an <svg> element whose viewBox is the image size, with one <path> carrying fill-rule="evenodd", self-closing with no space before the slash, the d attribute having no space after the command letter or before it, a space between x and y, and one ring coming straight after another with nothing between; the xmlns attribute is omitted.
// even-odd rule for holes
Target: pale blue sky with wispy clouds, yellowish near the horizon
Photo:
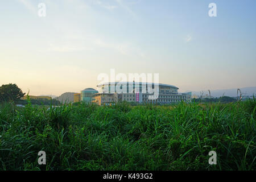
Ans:
<svg viewBox="0 0 256 182"><path fill-rule="evenodd" d="M115 69L159 73L180 92L256 86L255 9L255 0L0 1L0 85L59 96L96 89Z"/></svg>

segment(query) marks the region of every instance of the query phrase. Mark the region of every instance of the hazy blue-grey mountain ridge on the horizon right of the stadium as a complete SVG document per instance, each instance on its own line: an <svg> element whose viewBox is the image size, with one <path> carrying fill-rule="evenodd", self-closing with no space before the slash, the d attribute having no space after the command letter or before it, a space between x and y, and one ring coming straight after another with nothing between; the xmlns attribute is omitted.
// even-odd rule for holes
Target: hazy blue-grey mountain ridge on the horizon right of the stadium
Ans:
<svg viewBox="0 0 256 182"><path fill-rule="evenodd" d="M240 88L242 96L256 96L256 86L252 87L244 87ZM204 95L208 94L208 90L203 90ZM196 94L196 96L200 96L200 91L192 92L192 95ZM239 95L240 93L238 93ZM237 89L221 89L221 90L210 90L210 95L213 97L222 97L222 96L229 96L229 97L237 97Z"/></svg>

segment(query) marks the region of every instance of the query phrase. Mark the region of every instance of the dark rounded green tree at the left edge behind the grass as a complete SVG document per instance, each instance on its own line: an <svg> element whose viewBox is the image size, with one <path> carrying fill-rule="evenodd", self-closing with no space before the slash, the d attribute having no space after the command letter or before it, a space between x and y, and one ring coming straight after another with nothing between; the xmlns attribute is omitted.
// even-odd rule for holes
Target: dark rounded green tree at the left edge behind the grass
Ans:
<svg viewBox="0 0 256 182"><path fill-rule="evenodd" d="M7 84L0 86L0 101L19 101L26 93L23 93L16 84Z"/></svg>

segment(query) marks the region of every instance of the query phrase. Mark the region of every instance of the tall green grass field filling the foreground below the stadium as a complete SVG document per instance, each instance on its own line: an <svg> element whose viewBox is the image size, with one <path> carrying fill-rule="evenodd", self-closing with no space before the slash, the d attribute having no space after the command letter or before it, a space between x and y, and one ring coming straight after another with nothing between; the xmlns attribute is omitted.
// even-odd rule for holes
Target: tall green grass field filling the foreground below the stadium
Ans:
<svg viewBox="0 0 256 182"><path fill-rule="evenodd" d="M0 170L255 170L255 106L2 104Z"/></svg>

